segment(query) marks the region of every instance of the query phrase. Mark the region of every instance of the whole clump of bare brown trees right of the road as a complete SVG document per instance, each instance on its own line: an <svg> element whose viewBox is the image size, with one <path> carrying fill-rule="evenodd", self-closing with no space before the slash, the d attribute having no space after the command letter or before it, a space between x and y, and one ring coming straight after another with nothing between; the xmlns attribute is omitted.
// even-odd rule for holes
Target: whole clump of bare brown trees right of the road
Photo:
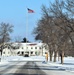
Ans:
<svg viewBox="0 0 74 75"><path fill-rule="evenodd" d="M53 51L54 61L56 61L58 51L61 56L61 63L63 64L68 46L71 48L71 45L73 45L74 47L74 16L71 17L68 14L71 12L73 15L73 4L73 0L55 0L49 8L42 6L42 17L37 23L34 34L36 35L36 40L42 40L48 44L50 61L52 60ZM68 8L69 5L70 7Z"/></svg>

